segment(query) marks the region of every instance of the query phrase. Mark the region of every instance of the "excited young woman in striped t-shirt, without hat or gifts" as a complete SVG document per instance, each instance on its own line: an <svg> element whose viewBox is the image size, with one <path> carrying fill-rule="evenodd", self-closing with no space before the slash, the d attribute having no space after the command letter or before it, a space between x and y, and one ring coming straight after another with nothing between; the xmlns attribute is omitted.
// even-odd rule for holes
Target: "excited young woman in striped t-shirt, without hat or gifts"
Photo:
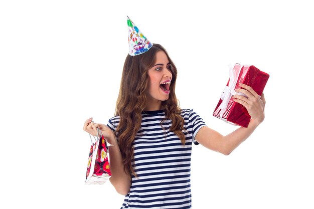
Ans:
<svg viewBox="0 0 314 209"><path fill-rule="evenodd" d="M107 125L84 123L96 136L98 127L110 144L109 178L125 195L121 208L191 208L192 142L230 154L264 119L261 98L249 86L235 95L252 117L247 128L223 136L207 127L193 109L181 109L175 94L177 68L166 50L153 44L145 53L126 57L115 117Z"/></svg>

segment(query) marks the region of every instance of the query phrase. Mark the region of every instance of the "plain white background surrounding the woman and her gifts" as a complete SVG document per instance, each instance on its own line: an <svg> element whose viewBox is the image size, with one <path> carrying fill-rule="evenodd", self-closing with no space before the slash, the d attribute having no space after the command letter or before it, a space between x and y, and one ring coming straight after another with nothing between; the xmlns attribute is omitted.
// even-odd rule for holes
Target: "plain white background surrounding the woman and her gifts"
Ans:
<svg viewBox="0 0 314 209"><path fill-rule="evenodd" d="M270 75L265 120L243 144L229 156L193 146L193 208L314 207L312 7L204 2L1 1L1 208L121 206L109 181L84 185L90 139L82 128L114 114L126 15L168 50L181 107L223 135L238 128L212 116L227 65Z"/></svg>

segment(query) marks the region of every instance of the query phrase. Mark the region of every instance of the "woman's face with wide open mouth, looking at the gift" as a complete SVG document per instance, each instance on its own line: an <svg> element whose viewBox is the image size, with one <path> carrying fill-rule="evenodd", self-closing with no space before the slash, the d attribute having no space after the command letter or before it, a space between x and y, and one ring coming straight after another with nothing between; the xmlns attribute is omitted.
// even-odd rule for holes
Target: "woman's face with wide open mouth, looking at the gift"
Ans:
<svg viewBox="0 0 314 209"><path fill-rule="evenodd" d="M170 62L165 52L156 53L154 66L147 72L148 80L148 105L158 105L169 99L172 73Z"/></svg>

